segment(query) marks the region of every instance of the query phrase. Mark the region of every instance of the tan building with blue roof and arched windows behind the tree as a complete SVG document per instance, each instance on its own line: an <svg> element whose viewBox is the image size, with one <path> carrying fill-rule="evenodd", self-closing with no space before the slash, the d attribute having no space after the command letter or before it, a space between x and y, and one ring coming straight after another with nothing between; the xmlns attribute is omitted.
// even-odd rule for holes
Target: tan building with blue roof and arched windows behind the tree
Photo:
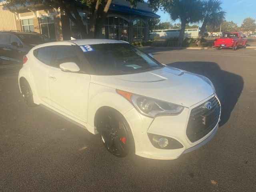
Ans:
<svg viewBox="0 0 256 192"><path fill-rule="evenodd" d="M81 7L79 3L78 8ZM88 34L89 11L86 8L78 11ZM146 2L138 2L136 8L131 8L130 3L125 0L113 0L100 38L127 42L147 41L150 18L160 18L160 16L155 14ZM4 2L0 2L0 30L32 31L57 41L81 38L78 28L64 11L40 4L7 8Z"/></svg>

